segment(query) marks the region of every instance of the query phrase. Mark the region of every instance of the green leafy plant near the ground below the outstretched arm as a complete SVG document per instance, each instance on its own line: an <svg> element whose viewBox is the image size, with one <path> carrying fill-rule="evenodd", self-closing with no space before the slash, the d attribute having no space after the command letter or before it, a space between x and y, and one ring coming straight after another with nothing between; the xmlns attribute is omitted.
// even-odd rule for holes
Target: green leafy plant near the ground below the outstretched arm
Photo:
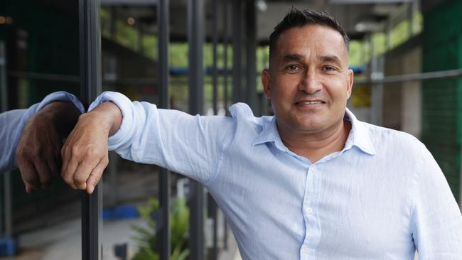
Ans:
<svg viewBox="0 0 462 260"><path fill-rule="evenodd" d="M158 247L156 245L156 222L151 215L159 210L159 201L151 198L148 205L138 207L141 218L146 222L147 227L132 226L137 233L134 237L139 244L139 251L132 260L157 260L159 259ZM173 203L170 215L171 228L171 260L184 260L189 256L189 209L186 200L178 198Z"/></svg>

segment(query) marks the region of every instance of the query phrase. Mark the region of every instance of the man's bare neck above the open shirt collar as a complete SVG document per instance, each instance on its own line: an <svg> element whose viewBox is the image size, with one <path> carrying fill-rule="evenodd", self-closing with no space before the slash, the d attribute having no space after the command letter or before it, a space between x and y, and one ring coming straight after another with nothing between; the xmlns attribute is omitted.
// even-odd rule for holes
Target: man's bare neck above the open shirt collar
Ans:
<svg viewBox="0 0 462 260"><path fill-rule="evenodd" d="M278 125L279 136L287 148L312 163L335 151L341 151L350 129L350 121L343 119L331 129L316 133L284 131L284 127Z"/></svg>

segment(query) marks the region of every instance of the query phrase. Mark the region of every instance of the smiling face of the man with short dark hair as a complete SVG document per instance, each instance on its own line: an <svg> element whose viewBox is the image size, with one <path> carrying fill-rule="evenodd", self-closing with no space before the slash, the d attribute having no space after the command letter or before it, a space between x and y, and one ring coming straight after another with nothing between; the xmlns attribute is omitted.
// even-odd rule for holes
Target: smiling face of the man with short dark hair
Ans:
<svg viewBox="0 0 462 260"><path fill-rule="evenodd" d="M319 25L291 28L275 47L262 83L279 129L316 134L340 126L353 85L340 33Z"/></svg>

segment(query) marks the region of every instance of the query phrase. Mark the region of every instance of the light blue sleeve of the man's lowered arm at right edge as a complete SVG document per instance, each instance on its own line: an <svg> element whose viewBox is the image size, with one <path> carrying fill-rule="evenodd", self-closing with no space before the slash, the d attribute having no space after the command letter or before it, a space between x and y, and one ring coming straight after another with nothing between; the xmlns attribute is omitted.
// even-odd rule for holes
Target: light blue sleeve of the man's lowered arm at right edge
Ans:
<svg viewBox="0 0 462 260"><path fill-rule="evenodd" d="M419 259L461 259L461 210L443 172L431 153L423 149L412 210L412 235Z"/></svg>

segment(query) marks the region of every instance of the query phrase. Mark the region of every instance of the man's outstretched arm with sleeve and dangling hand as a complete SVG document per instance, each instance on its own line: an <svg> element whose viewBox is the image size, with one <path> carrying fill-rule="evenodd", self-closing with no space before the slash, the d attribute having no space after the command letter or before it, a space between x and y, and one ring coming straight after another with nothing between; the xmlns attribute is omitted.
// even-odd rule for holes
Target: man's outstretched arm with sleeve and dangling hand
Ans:
<svg viewBox="0 0 462 260"><path fill-rule="evenodd" d="M205 183L217 172L220 156L235 133L233 119L157 109L117 92L104 92L89 110L63 146L61 172L72 188L87 193L92 193L107 166L108 150Z"/></svg>

